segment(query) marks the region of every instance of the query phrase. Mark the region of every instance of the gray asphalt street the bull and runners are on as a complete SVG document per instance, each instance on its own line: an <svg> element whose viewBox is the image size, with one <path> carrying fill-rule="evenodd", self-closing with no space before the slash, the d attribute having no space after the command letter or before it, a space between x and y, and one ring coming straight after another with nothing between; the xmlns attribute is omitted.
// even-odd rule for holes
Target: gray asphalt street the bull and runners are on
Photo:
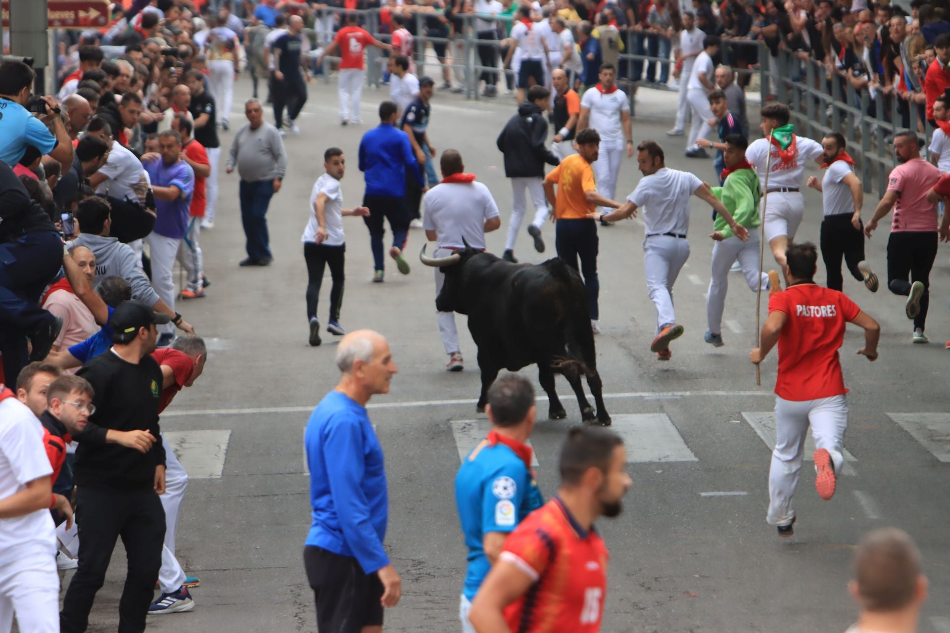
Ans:
<svg viewBox="0 0 950 633"><path fill-rule="evenodd" d="M239 81L233 122L243 121L240 104L249 96L250 83ZM385 88L363 93L364 121L375 120L376 104L386 97ZM299 120L303 132L285 140L290 168L268 214L275 251L270 268L237 267L244 256L237 175L221 176L217 226L201 235L205 270L214 285L207 298L179 307L206 337L210 360L196 386L184 390L162 416L162 428L177 434L181 461L192 474L178 554L202 584L193 592L194 611L150 619L151 630L315 631L301 558L310 525L302 431L316 402L336 382L337 370L333 340L316 348L307 344L300 233L326 147L338 145L349 158L346 204L361 199L356 150L369 127L341 128L336 103L335 82L310 84L310 101ZM503 230L488 237L494 252L503 248L511 200L494 140L514 110L514 103L502 98L468 102L443 93L432 105L433 143L440 150L461 150L467 171L485 182L502 209ZM712 160L683 158L684 139L664 136L674 111L674 94L642 90L635 139L659 140L669 166L712 181ZM222 134L225 152L233 138L234 131ZM618 192L627 195L639 177L636 162L624 162ZM809 190L805 196L800 239L817 242L820 195ZM865 218L874 203L867 200ZM675 342L670 363L657 363L649 351L655 313L643 277L642 224L634 220L600 230L599 370L615 429L637 460L628 465L635 483L625 511L599 525L611 549L602 630L843 631L856 612L845 591L854 544L865 531L895 525L917 539L930 578L932 598L921 630L950 631L945 600L950 472L944 463L950 459L944 368L950 352L941 345L950 337L947 250L940 249L932 276L929 345L910 343L902 298L883 284L872 295L845 280L845 291L882 323L881 358L867 363L855 355L863 338L848 330L842 350L851 388L846 447L854 460L830 502L818 498L810 468L803 469L796 535L779 540L765 522L775 355L763 364L763 384L757 386L748 359L755 295L737 273L731 274L725 315L727 344L714 349L703 343L712 242L706 237L708 210L695 201L693 212L693 254L675 288L686 334ZM444 370L432 272L415 259L425 239L421 231L410 233L409 276L399 275L389 262L386 283L376 285L363 223L347 218L344 224L349 278L341 321L349 329L384 333L400 368L391 393L371 401L387 454L387 546L404 579L403 601L387 612L387 629L458 630L466 552L451 482L460 452L479 433L478 423L462 420L482 418L474 406L480 384L475 347L459 317L466 370ZM883 226L867 243L867 259L882 278ZM550 255L553 227L546 227L544 236ZM523 261L544 258L531 250L526 233L516 254ZM823 268L819 279L824 280ZM328 272L319 308L324 322L329 284ZM524 371L537 381L533 368ZM580 421L567 383L559 379L558 385L569 418L542 420L533 438L546 495L556 490L563 433ZM543 403L540 408L546 410ZM115 629L123 559L120 546L90 630Z"/></svg>

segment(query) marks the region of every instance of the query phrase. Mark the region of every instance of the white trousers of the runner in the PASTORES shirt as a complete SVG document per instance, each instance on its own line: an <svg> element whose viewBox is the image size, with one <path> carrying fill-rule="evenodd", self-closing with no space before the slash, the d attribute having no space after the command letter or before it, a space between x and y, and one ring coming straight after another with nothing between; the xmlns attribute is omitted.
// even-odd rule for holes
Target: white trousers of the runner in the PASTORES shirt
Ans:
<svg viewBox="0 0 950 633"><path fill-rule="evenodd" d="M785 526L795 518L791 497L798 485L798 473L805 457L808 425L816 449L831 455L835 475L845 465L842 450L847 429L845 395L819 400L783 400L775 397L775 450L769 469L769 525Z"/></svg>

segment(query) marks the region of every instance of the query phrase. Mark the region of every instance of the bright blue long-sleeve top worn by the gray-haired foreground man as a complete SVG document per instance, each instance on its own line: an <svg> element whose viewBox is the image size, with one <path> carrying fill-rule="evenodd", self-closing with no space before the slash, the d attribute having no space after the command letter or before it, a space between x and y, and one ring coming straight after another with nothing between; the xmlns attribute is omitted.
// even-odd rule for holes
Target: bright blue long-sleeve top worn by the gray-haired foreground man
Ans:
<svg viewBox="0 0 950 633"><path fill-rule="evenodd" d="M306 544L352 556L366 573L389 565L383 448L366 408L331 391L307 422L304 446L314 518Z"/></svg>

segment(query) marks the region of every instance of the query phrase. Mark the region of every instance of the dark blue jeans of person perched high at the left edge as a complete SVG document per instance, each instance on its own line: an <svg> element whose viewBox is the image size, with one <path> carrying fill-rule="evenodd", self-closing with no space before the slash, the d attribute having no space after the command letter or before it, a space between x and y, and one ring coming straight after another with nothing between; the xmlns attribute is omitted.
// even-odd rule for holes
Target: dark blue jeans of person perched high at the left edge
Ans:
<svg viewBox="0 0 950 633"><path fill-rule="evenodd" d="M63 240L52 231L26 233L0 244L0 353L7 384L16 384L29 361L28 333L53 320L39 300L62 264Z"/></svg>

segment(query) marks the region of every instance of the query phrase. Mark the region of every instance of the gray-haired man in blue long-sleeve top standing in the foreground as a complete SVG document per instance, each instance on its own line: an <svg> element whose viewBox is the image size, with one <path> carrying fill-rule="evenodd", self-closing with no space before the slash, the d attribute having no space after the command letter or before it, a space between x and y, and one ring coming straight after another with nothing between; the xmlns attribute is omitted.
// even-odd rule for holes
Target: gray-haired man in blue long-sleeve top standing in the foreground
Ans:
<svg viewBox="0 0 950 633"><path fill-rule="evenodd" d="M389 493L383 448L367 414L398 371L378 332L347 334L336 349L340 382L314 409L304 446L314 521L303 551L320 633L381 630L383 607L402 596L402 579L383 548Z"/></svg>

